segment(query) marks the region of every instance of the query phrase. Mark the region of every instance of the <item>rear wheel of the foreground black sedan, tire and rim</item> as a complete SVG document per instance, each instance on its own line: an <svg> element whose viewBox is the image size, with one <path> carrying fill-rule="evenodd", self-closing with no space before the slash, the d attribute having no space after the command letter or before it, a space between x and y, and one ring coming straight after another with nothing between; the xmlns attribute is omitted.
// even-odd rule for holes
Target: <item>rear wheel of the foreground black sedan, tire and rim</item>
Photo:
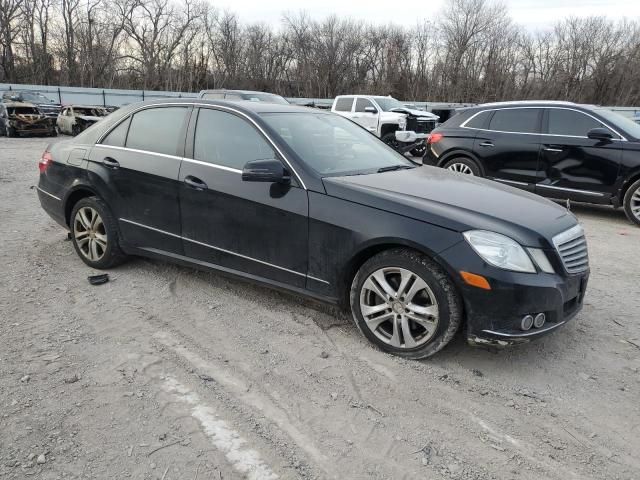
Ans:
<svg viewBox="0 0 640 480"><path fill-rule="evenodd" d="M79 200L73 206L69 223L73 248L91 268L104 270L126 260L120 249L116 220L100 198Z"/></svg>

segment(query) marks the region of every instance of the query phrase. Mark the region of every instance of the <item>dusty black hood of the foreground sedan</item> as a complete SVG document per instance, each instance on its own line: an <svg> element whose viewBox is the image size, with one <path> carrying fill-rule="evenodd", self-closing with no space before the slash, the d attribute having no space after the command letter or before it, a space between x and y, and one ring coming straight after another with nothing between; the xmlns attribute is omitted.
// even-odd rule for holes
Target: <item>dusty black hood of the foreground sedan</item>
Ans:
<svg viewBox="0 0 640 480"><path fill-rule="evenodd" d="M450 230L489 230L529 247L551 248L577 223L566 208L483 178L422 166L370 175L325 177L328 195Z"/></svg>

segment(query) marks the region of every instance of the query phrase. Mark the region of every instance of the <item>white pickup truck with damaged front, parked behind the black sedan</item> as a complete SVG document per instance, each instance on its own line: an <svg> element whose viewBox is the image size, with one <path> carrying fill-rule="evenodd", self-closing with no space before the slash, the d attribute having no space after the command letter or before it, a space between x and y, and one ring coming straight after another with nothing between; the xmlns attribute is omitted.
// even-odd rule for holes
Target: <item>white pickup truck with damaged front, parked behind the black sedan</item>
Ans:
<svg viewBox="0 0 640 480"><path fill-rule="evenodd" d="M339 95L331 111L353 120L397 150L410 149L414 156L424 155L424 139L438 121L437 115L407 108L395 98L372 95Z"/></svg>

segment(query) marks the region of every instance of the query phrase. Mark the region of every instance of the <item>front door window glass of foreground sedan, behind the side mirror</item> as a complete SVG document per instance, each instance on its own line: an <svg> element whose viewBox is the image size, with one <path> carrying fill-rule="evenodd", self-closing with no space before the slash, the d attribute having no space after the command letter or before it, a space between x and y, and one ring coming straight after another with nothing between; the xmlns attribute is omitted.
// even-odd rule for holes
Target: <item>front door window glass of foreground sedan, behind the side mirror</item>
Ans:
<svg viewBox="0 0 640 480"><path fill-rule="evenodd" d="M242 170L251 160L276 158L267 140L237 115L210 108L198 113L194 139L195 160Z"/></svg>

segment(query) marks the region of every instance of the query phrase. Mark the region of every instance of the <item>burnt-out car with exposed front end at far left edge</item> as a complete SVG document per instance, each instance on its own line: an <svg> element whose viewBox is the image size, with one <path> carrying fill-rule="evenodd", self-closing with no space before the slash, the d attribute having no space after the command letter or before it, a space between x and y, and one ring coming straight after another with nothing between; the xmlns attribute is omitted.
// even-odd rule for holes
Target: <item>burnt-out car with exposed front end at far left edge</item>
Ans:
<svg viewBox="0 0 640 480"><path fill-rule="evenodd" d="M0 103L0 135L57 135L54 120L34 105L21 102Z"/></svg>

